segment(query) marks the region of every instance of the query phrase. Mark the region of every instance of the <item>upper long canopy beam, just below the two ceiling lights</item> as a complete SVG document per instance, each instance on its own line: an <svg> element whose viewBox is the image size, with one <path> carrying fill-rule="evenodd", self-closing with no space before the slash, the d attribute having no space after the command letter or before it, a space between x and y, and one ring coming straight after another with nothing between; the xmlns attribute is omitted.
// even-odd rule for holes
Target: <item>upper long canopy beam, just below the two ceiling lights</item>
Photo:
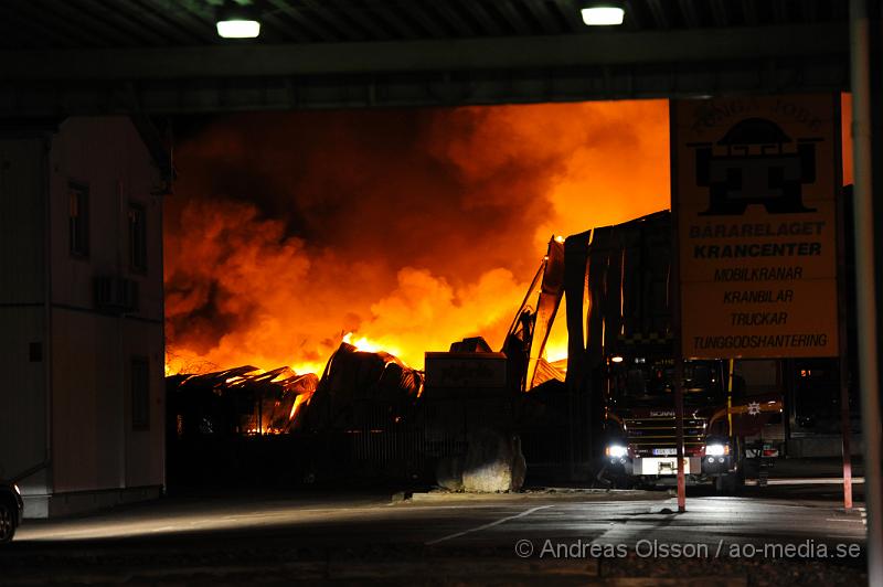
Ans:
<svg viewBox="0 0 883 587"><path fill-rule="evenodd" d="M845 23L312 45L0 51L4 81L468 72L845 55Z"/></svg>

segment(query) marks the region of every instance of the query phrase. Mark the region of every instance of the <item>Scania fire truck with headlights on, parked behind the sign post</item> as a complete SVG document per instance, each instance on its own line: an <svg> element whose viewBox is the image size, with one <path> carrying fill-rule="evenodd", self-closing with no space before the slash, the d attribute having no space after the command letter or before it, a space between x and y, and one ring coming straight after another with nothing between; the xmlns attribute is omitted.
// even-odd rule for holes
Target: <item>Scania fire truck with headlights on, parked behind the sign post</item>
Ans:
<svg viewBox="0 0 883 587"><path fill-rule="evenodd" d="M664 346L638 343L608 356L603 375L603 465L618 484L674 483L674 364ZM690 483L714 483L719 491L732 493L743 484L746 469L763 478L770 459L783 451L783 391L747 395L740 374L746 366L737 361L684 364L684 474Z"/></svg>

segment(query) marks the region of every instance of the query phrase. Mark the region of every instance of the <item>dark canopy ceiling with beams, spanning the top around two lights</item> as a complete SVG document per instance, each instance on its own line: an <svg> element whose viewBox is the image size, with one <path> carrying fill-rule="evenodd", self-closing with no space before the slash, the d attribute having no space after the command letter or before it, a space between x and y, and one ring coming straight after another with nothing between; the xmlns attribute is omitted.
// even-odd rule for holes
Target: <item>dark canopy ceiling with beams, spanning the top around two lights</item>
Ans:
<svg viewBox="0 0 883 587"><path fill-rule="evenodd" d="M246 3L246 0L237 0ZM220 39L222 0L0 6L0 115L211 113L838 90L842 0L252 0L256 40Z"/></svg>

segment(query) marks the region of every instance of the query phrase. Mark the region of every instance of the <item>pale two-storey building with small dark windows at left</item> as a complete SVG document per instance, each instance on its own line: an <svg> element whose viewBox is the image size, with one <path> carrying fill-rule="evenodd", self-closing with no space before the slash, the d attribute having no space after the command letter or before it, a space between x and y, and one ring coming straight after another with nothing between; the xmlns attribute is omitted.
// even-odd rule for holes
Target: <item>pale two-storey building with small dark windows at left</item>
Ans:
<svg viewBox="0 0 883 587"><path fill-rule="evenodd" d="M164 484L167 173L146 128L0 129L0 477L28 517Z"/></svg>

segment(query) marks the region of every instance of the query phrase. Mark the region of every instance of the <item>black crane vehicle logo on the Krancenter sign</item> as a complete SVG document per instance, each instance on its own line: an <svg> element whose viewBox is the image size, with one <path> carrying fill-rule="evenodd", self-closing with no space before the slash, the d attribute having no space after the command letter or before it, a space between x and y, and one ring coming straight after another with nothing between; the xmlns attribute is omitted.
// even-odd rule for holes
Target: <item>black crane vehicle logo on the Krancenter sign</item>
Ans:
<svg viewBox="0 0 883 587"><path fill-rule="evenodd" d="M716 143L694 142L696 185L709 189L709 207L701 216L745 213L760 204L769 214L816 212L804 205L802 185L816 181L816 143L795 141L765 118L735 124Z"/></svg>

